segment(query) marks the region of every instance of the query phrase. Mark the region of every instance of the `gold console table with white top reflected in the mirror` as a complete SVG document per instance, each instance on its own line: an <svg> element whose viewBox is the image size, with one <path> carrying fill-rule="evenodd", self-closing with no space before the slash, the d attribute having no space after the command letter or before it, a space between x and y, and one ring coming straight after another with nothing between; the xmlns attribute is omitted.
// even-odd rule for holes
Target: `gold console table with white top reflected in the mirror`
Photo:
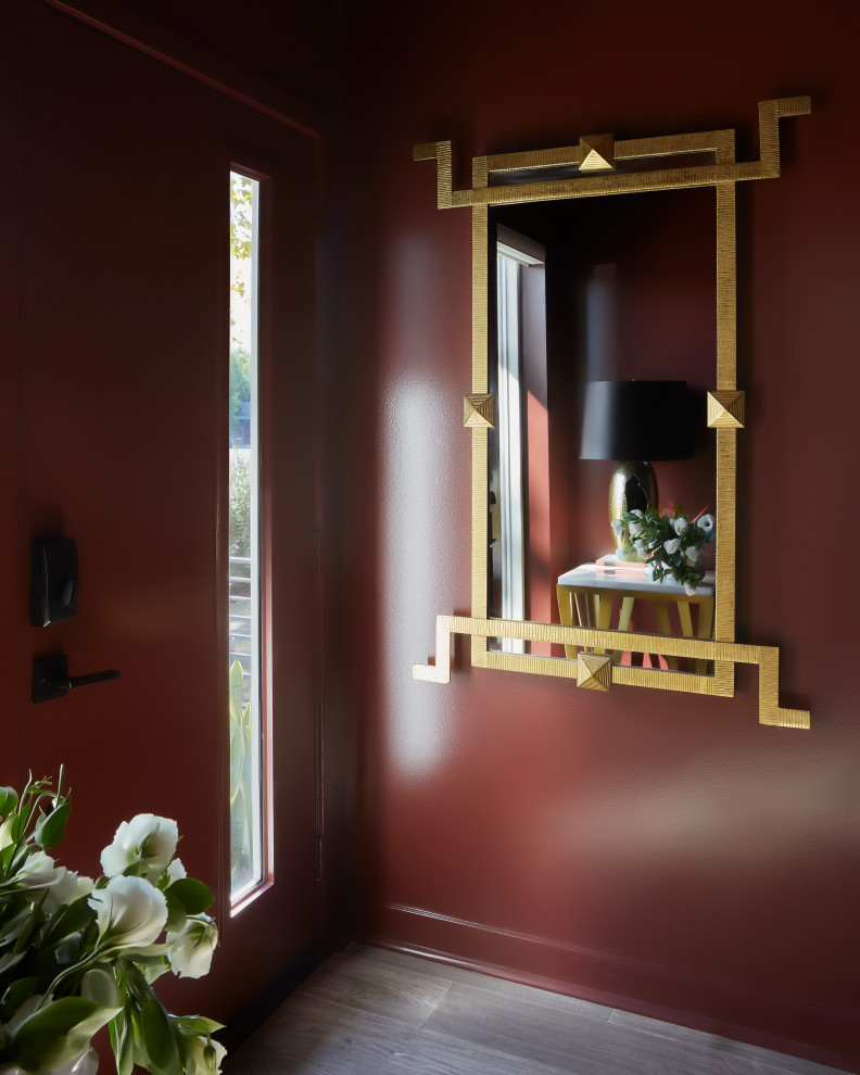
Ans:
<svg viewBox="0 0 860 1075"><path fill-rule="evenodd" d="M647 602L654 611L657 634L679 635L672 625L670 606L678 612L680 634L685 638L711 638L713 635L712 571L707 571L695 594L687 594L675 582L655 582L644 564L603 556L596 564L581 564L558 577L558 610L567 627L587 627L598 631L629 631L635 603ZM696 606L696 629L693 607ZM617 609L617 620L616 620ZM602 650L597 650L602 652ZM576 646L565 646L568 657L577 656ZM621 653L612 654L615 663ZM667 657L667 667L678 669L678 658ZM706 672L707 660L693 661L693 671Z"/></svg>

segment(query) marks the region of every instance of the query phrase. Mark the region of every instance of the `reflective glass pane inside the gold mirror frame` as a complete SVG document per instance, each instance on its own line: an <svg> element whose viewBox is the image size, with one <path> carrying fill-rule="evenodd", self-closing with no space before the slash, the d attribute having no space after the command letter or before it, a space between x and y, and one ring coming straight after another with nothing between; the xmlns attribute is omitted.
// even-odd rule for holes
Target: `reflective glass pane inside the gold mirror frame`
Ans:
<svg viewBox="0 0 860 1075"><path fill-rule="evenodd" d="M490 207L491 618L549 622L560 611L568 623L711 636L713 544L691 553L688 573L705 572L695 592L674 593L632 561L635 552L619 560L606 502L610 484L627 497L624 460L653 459L650 498L631 507L712 518L714 236L712 187ZM622 511L614 505L611 519ZM687 544L705 534L686 530ZM490 645L566 656L539 643ZM629 650L614 661L704 663Z"/></svg>

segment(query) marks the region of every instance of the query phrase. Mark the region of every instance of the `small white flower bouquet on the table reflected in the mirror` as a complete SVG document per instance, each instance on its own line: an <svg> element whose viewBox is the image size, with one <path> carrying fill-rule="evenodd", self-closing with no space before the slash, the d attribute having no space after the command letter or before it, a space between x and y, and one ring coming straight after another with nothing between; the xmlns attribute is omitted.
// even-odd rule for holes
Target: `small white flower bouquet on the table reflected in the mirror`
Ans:
<svg viewBox="0 0 860 1075"><path fill-rule="evenodd" d="M668 516L636 509L615 519L612 531L620 546L634 548L650 567L655 581L671 576L687 594L695 594L701 584L701 549L716 536L712 515L691 522L683 513Z"/></svg>

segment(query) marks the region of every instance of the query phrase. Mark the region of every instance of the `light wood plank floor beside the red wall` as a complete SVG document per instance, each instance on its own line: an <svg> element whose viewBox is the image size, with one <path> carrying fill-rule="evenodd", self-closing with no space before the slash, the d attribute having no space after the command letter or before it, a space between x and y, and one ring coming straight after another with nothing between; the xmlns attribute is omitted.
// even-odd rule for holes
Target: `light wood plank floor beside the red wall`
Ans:
<svg viewBox="0 0 860 1075"><path fill-rule="evenodd" d="M825 1075L728 1038L351 945L227 1058L225 1075Z"/></svg>

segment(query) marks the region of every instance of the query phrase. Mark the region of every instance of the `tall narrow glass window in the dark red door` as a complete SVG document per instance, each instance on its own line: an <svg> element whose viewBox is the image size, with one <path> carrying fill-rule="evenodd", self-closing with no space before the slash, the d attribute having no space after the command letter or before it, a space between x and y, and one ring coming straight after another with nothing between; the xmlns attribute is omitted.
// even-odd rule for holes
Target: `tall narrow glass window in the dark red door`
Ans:
<svg viewBox="0 0 860 1075"><path fill-rule="evenodd" d="M260 182L230 173L230 897L265 876L260 615L257 254Z"/></svg>

